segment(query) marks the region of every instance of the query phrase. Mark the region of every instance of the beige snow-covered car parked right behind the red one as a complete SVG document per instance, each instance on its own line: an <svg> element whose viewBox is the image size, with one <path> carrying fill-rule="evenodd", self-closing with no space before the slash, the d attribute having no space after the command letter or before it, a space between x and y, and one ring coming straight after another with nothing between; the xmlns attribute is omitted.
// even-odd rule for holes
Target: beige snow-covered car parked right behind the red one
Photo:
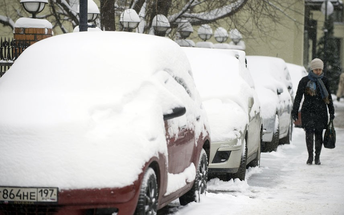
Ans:
<svg viewBox="0 0 344 215"><path fill-rule="evenodd" d="M259 166L260 103L245 52L187 48L192 74L211 129L209 176L245 180L247 166Z"/></svg>

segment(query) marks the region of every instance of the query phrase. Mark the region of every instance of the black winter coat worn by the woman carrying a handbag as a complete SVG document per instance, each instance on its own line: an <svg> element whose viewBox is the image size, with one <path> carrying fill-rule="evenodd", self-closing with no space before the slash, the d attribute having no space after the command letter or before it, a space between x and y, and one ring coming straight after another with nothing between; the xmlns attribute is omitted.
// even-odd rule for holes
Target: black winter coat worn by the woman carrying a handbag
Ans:
<svg viewBox="0 0 344 215"><path fill-rule="evenodd" d="M294 113L297 116L302 96L305 96L301 108L301 122L303 128L306 127L317 130L326 129L328 123L327 107L330 114L335 113L330 88L328 86L328 79L323 77L321 80L329 93L330 103L328 103L327 106L325 101L321 98L320 86L318 84L316 85L316 95L312 96L306 92L307 83L310 81L308 76L303 77L297 87L292 114Z"/></svg>

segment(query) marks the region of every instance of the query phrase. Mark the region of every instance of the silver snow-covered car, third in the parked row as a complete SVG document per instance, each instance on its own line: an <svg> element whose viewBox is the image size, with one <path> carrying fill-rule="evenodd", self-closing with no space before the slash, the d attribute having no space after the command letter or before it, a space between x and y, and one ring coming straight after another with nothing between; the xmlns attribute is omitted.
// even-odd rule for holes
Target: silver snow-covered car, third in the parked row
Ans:
<svg viewBox="0 0 344 215"><path fill-rule="evenodd" d="M293 123L292 82L286 63L281 58L247 56L263 117L262 151L276 151L279 144L291 140Z"/></svg>

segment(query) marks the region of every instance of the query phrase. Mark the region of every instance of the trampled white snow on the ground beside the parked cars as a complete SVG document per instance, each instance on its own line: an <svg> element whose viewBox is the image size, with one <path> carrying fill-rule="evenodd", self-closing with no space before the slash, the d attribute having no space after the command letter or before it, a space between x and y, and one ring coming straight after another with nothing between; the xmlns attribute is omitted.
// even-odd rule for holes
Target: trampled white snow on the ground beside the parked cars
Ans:
<svg viewBox="0 0 344 215"><path fill-rule="evenodd" d="M336 131L336 148L322 149L321 165L306 164L305 132L294 128L291 144L262 153L260 167L248 169L244 182L212 179L200 203L175 204L178 209L169 211L172 215L344 215L344 129Z"/></svg>

